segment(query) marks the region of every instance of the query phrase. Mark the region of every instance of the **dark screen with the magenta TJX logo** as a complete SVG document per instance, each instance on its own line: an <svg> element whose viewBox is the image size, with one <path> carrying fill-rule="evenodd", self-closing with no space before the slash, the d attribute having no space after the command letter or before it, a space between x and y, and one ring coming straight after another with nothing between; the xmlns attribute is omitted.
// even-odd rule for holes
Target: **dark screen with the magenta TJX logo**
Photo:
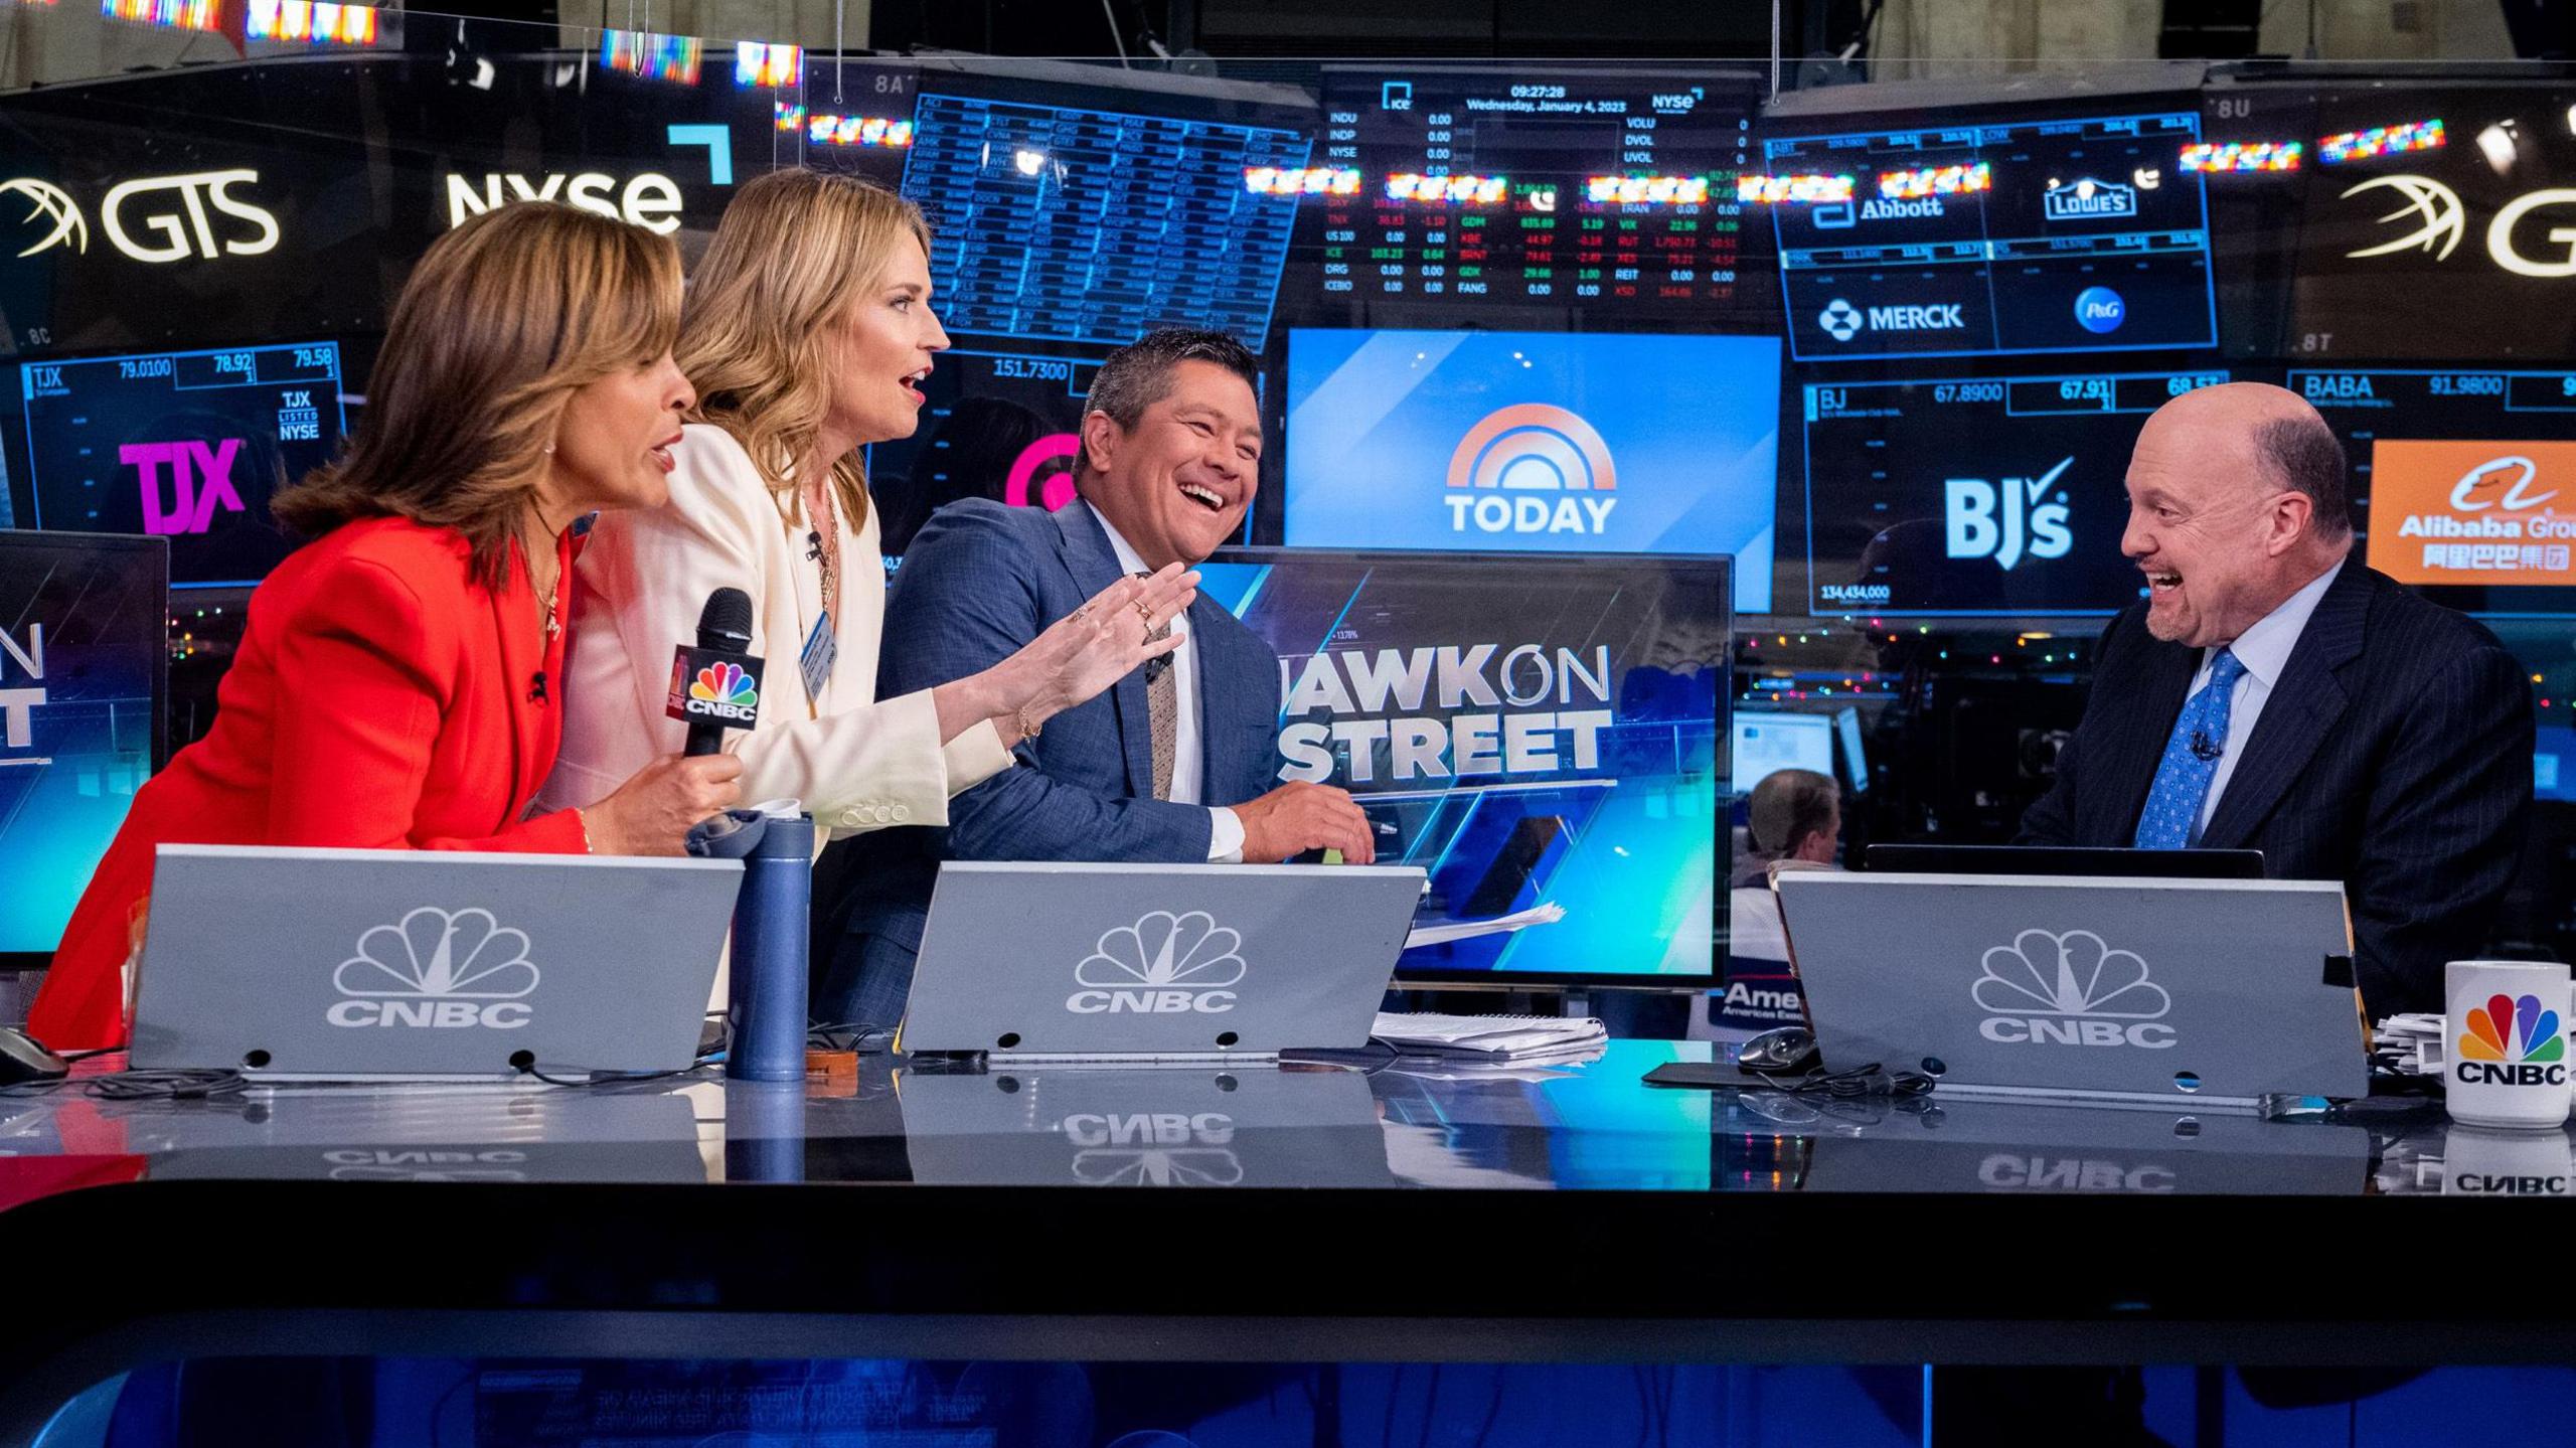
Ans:
<svg viewBox="0 0 2576 1448"><path fill-rule="evenodd" d="M170 538L170 582L252 585L289 551L268 497L340 448L337 343L31 361L28 523Z"/></svg>

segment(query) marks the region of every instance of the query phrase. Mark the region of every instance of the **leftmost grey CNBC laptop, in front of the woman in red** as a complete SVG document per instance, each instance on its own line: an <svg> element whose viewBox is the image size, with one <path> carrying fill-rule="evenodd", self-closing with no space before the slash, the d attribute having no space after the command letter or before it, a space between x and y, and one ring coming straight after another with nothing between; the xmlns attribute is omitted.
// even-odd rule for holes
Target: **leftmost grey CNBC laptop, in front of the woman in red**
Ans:
<svg viewBox="0 0 2576 1448"><path fill-rule="evenodd" d="M134 1067L270 1080L672 1072L739 861L162 845Z"/></svg>

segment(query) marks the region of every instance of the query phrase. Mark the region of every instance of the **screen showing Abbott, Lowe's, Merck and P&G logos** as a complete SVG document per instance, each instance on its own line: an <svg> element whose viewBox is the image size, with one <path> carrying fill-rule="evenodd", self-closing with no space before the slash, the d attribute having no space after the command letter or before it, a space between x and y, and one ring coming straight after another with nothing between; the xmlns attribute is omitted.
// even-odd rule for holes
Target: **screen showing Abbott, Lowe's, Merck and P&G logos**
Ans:
<svg viewBox="0 0 2576 1448"><path fill-rule="evenodd" d="M2210 348L2197 111L1770 134L1798 361Z"/></svg>

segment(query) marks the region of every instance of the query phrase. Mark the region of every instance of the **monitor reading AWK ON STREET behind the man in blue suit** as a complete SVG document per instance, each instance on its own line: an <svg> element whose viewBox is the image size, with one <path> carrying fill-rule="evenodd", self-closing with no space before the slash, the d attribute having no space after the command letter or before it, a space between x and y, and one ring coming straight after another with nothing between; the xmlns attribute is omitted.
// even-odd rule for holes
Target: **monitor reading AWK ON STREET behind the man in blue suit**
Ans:
<svg viewBox="0 0 2576 1448"><path fill-rule="evenodd" d="M1726 559L1244 549L1200 590L1280 667L1275 778L1422 866L1404 982L1716 989ZM1538 912L1538 915L1528 915Z"/></svg>

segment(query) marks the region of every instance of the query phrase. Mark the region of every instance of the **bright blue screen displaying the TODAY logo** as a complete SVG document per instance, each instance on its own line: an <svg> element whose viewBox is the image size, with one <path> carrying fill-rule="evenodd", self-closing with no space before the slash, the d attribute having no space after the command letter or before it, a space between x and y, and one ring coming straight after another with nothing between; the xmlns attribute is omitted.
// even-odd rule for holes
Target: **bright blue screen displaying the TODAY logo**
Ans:
<svg viewBox="0 0 2576 1448"><path fill-rule="evenodd" d="M1767 613L1777 384L1772 338L1296 330L1285 541L1734 554Z"/></svg>

